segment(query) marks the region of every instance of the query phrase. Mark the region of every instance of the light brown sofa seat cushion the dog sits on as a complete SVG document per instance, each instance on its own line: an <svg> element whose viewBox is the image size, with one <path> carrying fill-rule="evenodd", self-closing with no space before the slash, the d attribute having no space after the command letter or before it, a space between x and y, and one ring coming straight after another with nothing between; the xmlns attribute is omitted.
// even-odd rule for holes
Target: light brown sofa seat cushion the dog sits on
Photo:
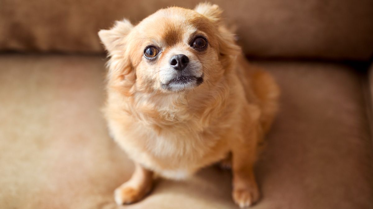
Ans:
<svg viewBox="0 0 373 209"><path fill-rule="evenodd" d="M280 112L256 166L258 209L373 207L372 141L361 75L325 62L258 61L282 89ZM116 208L133 164L107 135L104 58L0 57L0 208ZM237 208L231 174L209 167L157 180L125 208Z"/></svg>

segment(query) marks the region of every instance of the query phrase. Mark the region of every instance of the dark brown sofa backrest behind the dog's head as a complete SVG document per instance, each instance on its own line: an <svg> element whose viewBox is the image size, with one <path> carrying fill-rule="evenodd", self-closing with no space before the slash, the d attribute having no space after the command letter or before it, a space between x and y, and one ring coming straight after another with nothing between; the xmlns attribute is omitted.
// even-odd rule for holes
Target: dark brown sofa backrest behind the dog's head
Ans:
<svg viewBox="0 0 373 209"><path fill-rule="evenodd" d="M167 6L200 0L2 0L0 50L103 52L97 36L115 20L137 23ZM372 0L211 0L253 57L367 60L373 55Z"/></svg>

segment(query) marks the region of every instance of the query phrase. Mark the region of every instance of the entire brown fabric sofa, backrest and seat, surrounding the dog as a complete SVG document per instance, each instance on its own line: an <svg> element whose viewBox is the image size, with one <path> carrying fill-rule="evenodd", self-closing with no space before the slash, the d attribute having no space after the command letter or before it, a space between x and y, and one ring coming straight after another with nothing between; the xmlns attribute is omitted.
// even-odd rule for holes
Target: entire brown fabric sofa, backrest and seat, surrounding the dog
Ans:
<svg viewBox="0 0 373 209"><path fill-rule="evenodd" d="M197 0L0 0L0 208L237 208L231 174L157 180L139 203L113 191L133 164L107 134L97 36ZM282 89L256 167L253 208L373 208L373 1L211 0L247 58Z"/></svg>

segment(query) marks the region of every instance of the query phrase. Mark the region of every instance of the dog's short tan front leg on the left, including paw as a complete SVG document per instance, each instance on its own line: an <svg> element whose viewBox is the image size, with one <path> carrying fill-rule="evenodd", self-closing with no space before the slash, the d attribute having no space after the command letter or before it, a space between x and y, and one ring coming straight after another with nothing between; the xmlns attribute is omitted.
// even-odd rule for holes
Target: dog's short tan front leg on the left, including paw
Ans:
<svg viewBox="0 0 373 209"><path fill-rule="evenodd" d="M118 187L114 192L118 205L134 203L150 192L153 183L153 172L135 163L131 179Z"/></svg>

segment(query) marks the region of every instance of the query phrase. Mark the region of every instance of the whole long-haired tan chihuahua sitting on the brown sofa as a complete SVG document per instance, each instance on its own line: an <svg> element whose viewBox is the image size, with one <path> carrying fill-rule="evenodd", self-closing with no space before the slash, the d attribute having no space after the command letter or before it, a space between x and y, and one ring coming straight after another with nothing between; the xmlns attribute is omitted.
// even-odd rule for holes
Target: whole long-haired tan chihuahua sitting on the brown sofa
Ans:
<svg viewBox="0 0 373 209"><path fill-rule="evenodd" d="M279 90L245 61L221 13L207 3L170 7L98 33L111 57L104 112L135 162L115 190L118 204L144 197L153 172L183 179L230 155L234 201L246 207L259 199L253 164Z"/></svg>

